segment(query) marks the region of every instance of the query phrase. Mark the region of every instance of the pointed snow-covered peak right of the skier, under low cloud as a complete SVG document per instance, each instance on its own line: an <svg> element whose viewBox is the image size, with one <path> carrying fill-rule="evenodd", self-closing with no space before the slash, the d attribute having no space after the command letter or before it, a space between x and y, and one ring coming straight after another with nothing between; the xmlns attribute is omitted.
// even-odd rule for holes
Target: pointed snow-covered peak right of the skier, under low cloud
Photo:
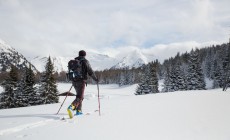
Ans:
<svg viewBox="0 0 230 140"><path fill-rule="evenodd" d="M149 61L147 57L140 51L134 50L123 57L116 65L111 69L120 69L120 68L138 68L143 64L147 64Z"/></svg>

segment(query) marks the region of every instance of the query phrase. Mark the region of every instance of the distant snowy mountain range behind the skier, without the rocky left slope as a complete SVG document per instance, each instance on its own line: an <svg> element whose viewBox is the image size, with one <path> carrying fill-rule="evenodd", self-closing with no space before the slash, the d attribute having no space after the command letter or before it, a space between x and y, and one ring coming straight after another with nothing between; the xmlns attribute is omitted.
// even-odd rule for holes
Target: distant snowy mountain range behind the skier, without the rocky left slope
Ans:
<svg viewBox="0 0 230 140"><path fill-rule="evenodd" d="M75 54L78 54L75 52ZM113 58L105 54L99 54L95 52L87 52L86 59L89 60L92 68L94 70L104 70L104 69L120 69L120 68L137 68L143 64L147 64L152 61L147 58L142 52L135 50L123 54L124 57L120 59L119 57ZM67 71L68 61L74 59L76 56L61 57L61 56L51 56L55 70L58 72ZM39 71L44 71L45 61L47 57L37 56L31 59L31 62L36 66Z"/></svg>

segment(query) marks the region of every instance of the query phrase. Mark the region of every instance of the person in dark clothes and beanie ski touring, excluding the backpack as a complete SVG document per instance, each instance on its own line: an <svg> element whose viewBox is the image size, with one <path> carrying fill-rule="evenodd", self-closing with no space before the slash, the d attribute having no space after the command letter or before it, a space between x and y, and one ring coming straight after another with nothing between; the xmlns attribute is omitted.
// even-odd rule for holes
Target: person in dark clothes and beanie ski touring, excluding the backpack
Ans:
<svg viewBox="0 0 230 140"><path fill-rule="evenodd" d="M82 115L82 101L84 99L85 85L87 85L87 75L92 77L94 81L98 82L98 79L89 64L89 61L85 59L85 56L86 52L84 50L81 50L79 51L79 56L75 58L75 60L79 60L82 63L82 77L75 78L72 81L72 84L76 90L76 99L71 103L71 105L67 109L70 118L72 118L70 110L76 110L76 115Z"/></svg>

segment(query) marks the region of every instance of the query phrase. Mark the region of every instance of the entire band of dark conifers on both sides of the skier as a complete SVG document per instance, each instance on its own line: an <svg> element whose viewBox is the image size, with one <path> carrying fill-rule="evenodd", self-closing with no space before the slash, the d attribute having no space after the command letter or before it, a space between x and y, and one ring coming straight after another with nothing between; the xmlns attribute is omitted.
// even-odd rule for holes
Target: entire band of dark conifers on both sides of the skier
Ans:
<svg viewBox="0 0 230 140"><path fill-rule="evenodd" d="M207 87L205 80L212 81L211 88L226 90L230 86L230 44L178 53L162 64L155 60L139 68L107 69L95 73L100 84L138 84L134 91L136 95L204 90ZM164 81L163 87L159 87L159 80ZM67 82L66 72L55 72L50 57L43 73L34 74L31 66L19 70L11 65L10 72L0 73L4 89L0 93L0 108L57 103L56 82ZM88 83L94 81L89 79Z"/></svg>

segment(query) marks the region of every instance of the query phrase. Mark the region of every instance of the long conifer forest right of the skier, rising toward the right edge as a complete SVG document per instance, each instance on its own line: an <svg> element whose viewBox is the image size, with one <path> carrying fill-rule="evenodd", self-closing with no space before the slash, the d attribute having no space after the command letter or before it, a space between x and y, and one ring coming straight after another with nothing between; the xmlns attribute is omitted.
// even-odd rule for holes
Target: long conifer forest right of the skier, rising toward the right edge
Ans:
<svg viewBox="0 0 230 140"><path fill-rule="evenodd" d="M162 64L155 60L140 68L109 69L96 74L102 84L138 83L135 94L206 89L206 79L212 81L211 88L226 90L230 85L230 45L192 49ZM159 80L164 81L162 91L158 90Z"/></svg>

